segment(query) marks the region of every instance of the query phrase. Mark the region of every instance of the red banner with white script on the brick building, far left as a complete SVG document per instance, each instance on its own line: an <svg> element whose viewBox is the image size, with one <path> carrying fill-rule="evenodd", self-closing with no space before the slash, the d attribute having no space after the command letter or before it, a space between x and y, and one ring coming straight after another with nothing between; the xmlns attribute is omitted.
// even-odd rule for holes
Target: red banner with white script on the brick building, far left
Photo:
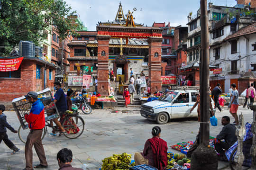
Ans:
<svg viewBox="0 0 256 170"><path fill-rule="evenodd" d="M0 72L17 71L24 57L0 60Z"/></svg>

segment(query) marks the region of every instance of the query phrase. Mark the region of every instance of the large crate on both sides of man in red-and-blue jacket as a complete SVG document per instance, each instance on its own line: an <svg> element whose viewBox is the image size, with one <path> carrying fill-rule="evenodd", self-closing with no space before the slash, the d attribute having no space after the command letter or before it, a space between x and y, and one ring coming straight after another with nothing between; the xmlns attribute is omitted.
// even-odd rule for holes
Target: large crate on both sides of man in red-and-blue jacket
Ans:
<svg viewBox="0 0 256 170"><path fill-rule="evenodd" d="M37 98L39 100L41 100L41 102L45 106L45 112L47 111L47 114L50 115L50 116L46 115L46 117L45 117L46 121L58 118L59 112L54 103L54 98L52 96L51 89L47 88L42 91L38 91L37 94L38 94ZM17 116L18 116L20 125L22 126L23 129L27 129L28 124L25 120L25 115L29 114L30 109L31 109L31 103L29 103L29 101L25 98L25 96L22 96L20 98L15 98L12 100L11 103L15 109ZM49 113L49 110L54 110L54 112Z"/></svg>

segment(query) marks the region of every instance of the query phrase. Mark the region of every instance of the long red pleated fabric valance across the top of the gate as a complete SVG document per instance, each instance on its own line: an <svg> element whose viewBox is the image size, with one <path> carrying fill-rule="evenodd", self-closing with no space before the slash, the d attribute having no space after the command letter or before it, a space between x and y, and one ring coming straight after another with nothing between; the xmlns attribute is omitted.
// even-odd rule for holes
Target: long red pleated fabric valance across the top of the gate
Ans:
<svg viewBox="0 0 256 170"><path fill-rule="evenodd" d="M109 32L109 31L98 31L98 35L111 36L112 38L143 38L149 36L162 37L162 34L149 34L149 33L128 33L128 32Z"/></svg>

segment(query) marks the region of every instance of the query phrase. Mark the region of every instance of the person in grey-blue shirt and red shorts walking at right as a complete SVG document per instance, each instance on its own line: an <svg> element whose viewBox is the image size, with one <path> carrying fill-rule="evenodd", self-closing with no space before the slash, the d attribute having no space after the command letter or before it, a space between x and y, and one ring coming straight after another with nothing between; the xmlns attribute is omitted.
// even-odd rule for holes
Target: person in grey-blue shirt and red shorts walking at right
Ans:
<svg viewBox="0 0 256 170"><path fill-rule="evenodd" d="M239 101L238 101L238 90L237 90L237 85L236 84L231 84L232 88L232 97L231 97L231 102L229 103L229 113L235 118L235 122L233 122L235 125L238 125L238 106L239 106Z"/></svg>

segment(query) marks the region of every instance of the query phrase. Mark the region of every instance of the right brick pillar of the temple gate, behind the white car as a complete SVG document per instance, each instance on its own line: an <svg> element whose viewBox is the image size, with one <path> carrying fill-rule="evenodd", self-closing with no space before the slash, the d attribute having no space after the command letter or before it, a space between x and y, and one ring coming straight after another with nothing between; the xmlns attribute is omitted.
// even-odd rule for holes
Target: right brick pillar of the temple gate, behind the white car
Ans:
<svg viewBox="0 0 256 170"><path fill-rule="evenodd" d="M161 45L162 39L159 37L148 38L148 81L151 93L157 90L162 90L161 81Z"/></svg>

